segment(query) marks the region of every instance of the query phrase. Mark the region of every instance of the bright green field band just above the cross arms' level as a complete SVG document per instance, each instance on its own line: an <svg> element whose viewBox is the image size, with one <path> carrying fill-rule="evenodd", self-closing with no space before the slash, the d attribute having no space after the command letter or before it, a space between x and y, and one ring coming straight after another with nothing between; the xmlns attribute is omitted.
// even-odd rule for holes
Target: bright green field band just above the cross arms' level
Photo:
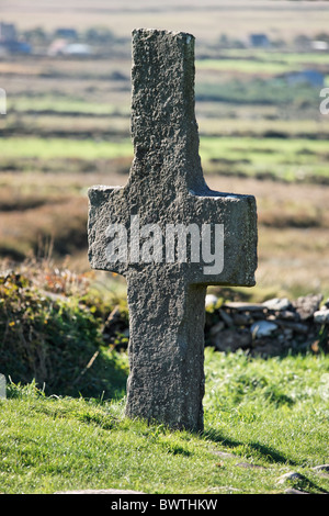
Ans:
<svg viewBox="0 0 329 516"><path fill-rule="evenodd" d="M202 136L200 154L206 171L269 177L287 181L328 178L326 141L307 138L257 138ZM3 161L13 159L82 160L132 157L131 139L94 141L70 138L11 137L1 141Z"/></svg>

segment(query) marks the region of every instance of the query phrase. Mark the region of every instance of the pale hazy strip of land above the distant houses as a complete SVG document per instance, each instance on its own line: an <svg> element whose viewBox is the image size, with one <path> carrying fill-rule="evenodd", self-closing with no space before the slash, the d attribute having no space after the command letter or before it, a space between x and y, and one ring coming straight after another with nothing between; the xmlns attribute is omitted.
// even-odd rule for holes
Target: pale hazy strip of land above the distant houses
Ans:
<svg viewBox="0 0 329 516"><path fill-rule="evenodd" d="M219 34L248 37L266 32L276 38L293 38L300 33L315 35L329 25L328 2L275 0L2 0L1 19L16 21L22 29L56 29L75 24L78 29L105 25L129 37L135 27L148 26L191 32L201 40L216 40Z"/></svg>

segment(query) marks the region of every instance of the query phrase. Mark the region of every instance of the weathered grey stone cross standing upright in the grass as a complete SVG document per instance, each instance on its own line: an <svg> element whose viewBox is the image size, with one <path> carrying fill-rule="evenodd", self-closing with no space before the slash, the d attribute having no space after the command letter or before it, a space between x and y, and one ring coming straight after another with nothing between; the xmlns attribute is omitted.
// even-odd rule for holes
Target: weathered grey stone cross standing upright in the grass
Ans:
<svg viewBox="0 0 329 516"><path fill-rule="evenodd" d="M205 183L194 37L136 30L133 60L134 161L125 187L89 190L89 259L127 280L126 415L197 431L206 287L254 284L256 201Z"/></svg>

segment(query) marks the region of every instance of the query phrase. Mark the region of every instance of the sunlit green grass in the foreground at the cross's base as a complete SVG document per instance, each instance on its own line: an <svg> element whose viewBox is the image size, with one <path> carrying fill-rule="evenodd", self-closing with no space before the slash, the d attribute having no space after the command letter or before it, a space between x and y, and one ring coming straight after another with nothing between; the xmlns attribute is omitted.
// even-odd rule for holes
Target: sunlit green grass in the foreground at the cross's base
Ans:
<svg viewBox="0 0 329 516"><path fill-rule="evenodd" d="M9 384L0 401L1 492L329 491L328 476L313 470L328 462L328 357L250 360L207 348L205 370L202 435L132 422L125 399L47 397L33 383ZM292 470L303 479L281 485Z"/></svg>

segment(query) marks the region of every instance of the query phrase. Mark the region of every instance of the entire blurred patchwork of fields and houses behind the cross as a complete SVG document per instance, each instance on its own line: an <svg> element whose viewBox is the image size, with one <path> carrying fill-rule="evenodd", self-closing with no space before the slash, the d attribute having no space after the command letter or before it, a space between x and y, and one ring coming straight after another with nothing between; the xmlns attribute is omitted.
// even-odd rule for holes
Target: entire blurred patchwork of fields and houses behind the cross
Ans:
<svg viewBox="0 0 329 516"><path fill-rule="evenodd" d="M52 251L89 271L87 189L127 180L131 33L150 26L196 37L208 184L257 198L249 295L329 295L328 2L2 0L0 21L1 268Z"/></svg>

